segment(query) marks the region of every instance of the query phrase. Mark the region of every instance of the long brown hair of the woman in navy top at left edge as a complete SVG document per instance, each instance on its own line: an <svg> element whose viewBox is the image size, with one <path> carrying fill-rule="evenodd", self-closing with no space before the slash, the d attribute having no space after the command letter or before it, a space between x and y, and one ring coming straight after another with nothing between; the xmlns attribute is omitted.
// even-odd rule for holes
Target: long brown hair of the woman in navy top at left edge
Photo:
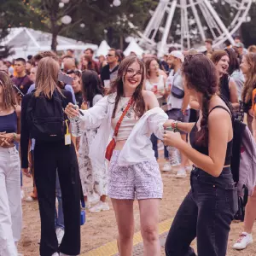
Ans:
<svg viewBox="0 0 256 256"><path fill-rule="evenodd" d="M9 75L0 71L0 86L3 87L3 109L15 108L17 105L14 84L9 78Z"/></svg>

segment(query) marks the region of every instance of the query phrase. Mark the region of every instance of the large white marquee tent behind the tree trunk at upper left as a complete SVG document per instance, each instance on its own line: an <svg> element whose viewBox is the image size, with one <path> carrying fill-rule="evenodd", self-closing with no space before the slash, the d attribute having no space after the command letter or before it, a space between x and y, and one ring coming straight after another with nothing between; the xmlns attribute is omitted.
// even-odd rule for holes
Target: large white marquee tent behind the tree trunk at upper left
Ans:
<svg viewBox="0 0 256 256"><path fill-rule="evenodd" d="M15 54L12 58L23 57L27 55L35 55L38 51L50 50L52 35L48 32L36 31L26 27L16 27L9 30L9 35L3 38L1 45L12 46ZM97 49L96 44L84 44L71 38L57 37L57 50L79 50L86 48Z"/></svg>

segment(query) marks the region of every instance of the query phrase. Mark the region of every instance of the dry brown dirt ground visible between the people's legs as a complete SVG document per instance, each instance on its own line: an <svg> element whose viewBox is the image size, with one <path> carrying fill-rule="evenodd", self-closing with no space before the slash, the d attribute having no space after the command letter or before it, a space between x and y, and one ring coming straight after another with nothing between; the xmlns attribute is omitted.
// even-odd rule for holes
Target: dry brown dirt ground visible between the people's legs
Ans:
<svg viewBox="0 0 256 256"><path fill-rule="evenodd" d="M161 165L160 165L161 166ZM168 218L173 218L177 212L181 201L189 191L189 176L183 179L170 177L169 173L163 173L164 198L160 202L160 222ZM32 180L24 177L24 190L26 195L32 190ZM111 206L111 202L109 201ZM137 201L134 203L136 231L139 227L139 212ZM113 241L117 236L113 208L108 212L87 213L87 223L82 227L82 249L81 253L90 251L95 247L100 247L108 241ZM232 224L229 238L228 256L254 256L256 255L256 242L247 247L242 252L232 249L232 244L236 241L238 234L242 231L242 224ZM256 225L253 233L256 234ZM24 256L38 256L40 239L40 218L38 212L38 201L23 202L23 230L19 243L19 252ZM195 245L195 241L193 242ZM165 255L162 253L162 255Z"/></svg>

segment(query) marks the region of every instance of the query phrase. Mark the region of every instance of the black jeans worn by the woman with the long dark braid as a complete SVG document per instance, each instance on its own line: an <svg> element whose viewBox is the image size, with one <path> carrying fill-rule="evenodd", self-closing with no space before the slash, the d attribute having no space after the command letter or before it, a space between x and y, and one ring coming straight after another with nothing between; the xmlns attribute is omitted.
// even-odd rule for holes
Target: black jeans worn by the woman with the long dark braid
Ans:
<svg viewBox="0 0 256 256"><path fill-rule="evenodd" d="M198 256L226 255L230 224L238 209L237 189L230 167L219 177L194 169L191 189L173 220L166 239L166 256L195 256L190 247L197 237Z"/></svg>

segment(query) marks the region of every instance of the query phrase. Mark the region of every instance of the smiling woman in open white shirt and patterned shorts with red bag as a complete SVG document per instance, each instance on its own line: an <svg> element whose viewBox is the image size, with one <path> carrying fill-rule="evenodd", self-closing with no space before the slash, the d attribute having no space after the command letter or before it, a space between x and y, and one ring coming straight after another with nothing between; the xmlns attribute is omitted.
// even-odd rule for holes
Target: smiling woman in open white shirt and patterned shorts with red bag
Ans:
<svg viewBox="0 0 256 256"><path fill-rule="evenodd" d="M120 255L132 255L135 199L140 206L144 253L160 255L157 226L163 184L150 136L154 132L163 138L163 124L168 116L159 108L154 93L143 90L144 73L140 59L125 58L109 95L92 108L81 110L84 116L79 117L87 129L99 126L90 158L97 165L104 164L105 157L110 159L108 195L119 228ZM69 104L65 112L70 117L79 113L73 109L73 104ZM108 145L109 137L113 139Z"/></svg>

